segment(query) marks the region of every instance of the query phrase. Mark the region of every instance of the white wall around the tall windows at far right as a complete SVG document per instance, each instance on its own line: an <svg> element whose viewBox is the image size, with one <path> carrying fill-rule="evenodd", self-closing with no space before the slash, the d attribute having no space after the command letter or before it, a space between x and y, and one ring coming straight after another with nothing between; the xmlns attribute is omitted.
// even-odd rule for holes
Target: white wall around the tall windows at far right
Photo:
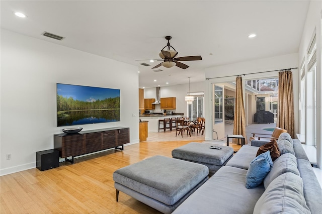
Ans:
<svg viewBox="0 0 322 214"><path fill-rule="evenodd" d="M299 45L299 59L298 64L302 63L303 58L305 62L307 61L307 48L311 40L312 34L316 29L316 106L317 106L317 127L316 127L316 161L317 167L321 169L322 167L322 1L310 1L310 6L308 8L307 17L305 25L303 28L303 34L301 43ZM298 71L300 72L300 71ZM307 65L305 63L305 72L307 72ZM300 77L301 74L299 73ZM300 78L298 80L298 85L300 85ZM300 118L300 115L299 115ZM309 118L307 118L310 120ZM305 126L307 124L305 123ZM309 136L305 137L308 138ZM310 142L307 142L310 144Z"/></svg>

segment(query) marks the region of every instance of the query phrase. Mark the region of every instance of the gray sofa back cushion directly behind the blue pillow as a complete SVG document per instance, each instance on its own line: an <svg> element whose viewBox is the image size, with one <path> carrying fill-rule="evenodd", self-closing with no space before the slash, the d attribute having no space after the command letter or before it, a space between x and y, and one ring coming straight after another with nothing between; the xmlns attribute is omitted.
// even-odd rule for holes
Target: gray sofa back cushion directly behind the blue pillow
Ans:
<svg viewBox="0 0 322 214"><path fill-rule="evenodd" d="M296 157L291 153L285 153L274 161L271 171L264 178L265 189L275 178L286 172L292 172L298 176L300 175L297 169Z"/></svg>

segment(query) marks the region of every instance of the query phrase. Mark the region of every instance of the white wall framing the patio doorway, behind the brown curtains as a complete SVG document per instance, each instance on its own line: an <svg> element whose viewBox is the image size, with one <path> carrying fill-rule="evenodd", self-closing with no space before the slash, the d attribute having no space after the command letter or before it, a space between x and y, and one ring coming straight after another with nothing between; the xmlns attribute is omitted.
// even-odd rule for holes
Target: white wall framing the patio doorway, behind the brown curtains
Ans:
<svg viewBox="0 0 322 214"><path fill-rule="evenodd" d="M212 83L223 83L223 82L231 82L235 81L236 76L241 74L255 73L255 72L263 72L263 71L271 71L278 69L286 69L298 67L298 54L287 54L282 56L275 56L264 59L257 59L252 61L245 61L240 63L221 65L212 68L206 69L205 78L213 78L213 77L223 77L223 78L213 78L206 80L205 83L205 118L212 118L212 106L211 106L211 84ZM294 90L294 112L298 112L298 73L297 69L292 70L293 73L293 90ZM230 76L232 77L224 77ZM243 80L248 79L256 79L256 78L265 78L278 76L278 71L276 72L267 72L260 74L250 74L242 76ZM295 121L297 121L297 115L295 115ZM205 140L212 140L212 120L206 120L206 136ZM297 124L295 125L295 132L297 130Z"/></svg>

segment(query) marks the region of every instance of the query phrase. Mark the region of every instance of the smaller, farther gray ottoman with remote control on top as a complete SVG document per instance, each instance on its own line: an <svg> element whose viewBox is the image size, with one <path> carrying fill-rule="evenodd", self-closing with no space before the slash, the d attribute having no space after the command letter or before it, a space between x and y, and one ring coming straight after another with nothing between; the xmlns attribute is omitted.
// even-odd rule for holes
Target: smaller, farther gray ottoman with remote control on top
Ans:
<svg viewBox="0 0 322 214"><path fill-rule="evenodd" d="M172 157L176 159L200 163L209 168L210 174L224 166L233 156L233 149L219 146L220 150L210 149L214 144L192 142L172 150Z"/></svg>

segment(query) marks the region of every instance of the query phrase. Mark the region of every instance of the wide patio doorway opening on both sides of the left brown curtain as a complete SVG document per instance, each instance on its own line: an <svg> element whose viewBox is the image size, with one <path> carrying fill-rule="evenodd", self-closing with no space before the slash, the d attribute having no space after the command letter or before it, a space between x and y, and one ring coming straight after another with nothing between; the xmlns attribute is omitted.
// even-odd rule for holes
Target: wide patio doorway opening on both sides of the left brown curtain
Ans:
<svg viewBox="0 0 322 214"><path fill-rule="evenodd" d="M243 84L247 139L255 132L271 134L271 130L276 127L278 113L278 77L248 79ZM217 97L219 89L223 97L221 102ZM212 86L213 130L221 140L226 140L226 136L233 131L235 89L234 81L215 83ZM220 115L219 110L223 114L222 119L217 117ZM213 140L217 139L215 134L212 137Z"/></svg>

